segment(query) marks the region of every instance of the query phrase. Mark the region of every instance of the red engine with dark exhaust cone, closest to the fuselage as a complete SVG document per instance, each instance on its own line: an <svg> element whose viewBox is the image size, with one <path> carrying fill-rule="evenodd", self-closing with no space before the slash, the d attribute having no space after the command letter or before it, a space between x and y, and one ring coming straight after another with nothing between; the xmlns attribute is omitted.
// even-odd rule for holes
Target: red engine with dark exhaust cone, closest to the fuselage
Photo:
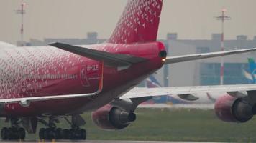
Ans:
<svg viewBox="0 0 256 143"><path fill-rule="evenodd" d="M101 129L124 129L136 119L136 114L107 104L91 113L92 120Z"/></svg>

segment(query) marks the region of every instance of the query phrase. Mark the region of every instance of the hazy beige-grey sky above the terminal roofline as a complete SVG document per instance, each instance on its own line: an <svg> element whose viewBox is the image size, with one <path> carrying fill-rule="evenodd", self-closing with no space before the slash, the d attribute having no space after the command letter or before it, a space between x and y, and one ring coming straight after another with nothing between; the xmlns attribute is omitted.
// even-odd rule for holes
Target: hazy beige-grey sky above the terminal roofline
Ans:
<svg viewBox="0 0 256 143"><path fill-rule="evenodd" d="M0 41L16 44L20 39L21 0L0 0ZM24 39L86 38L99 32L100 39L111 35L126 0L24 0ZM158 39L178 33L178 39L211 39L220 33L221 22L214 17L227 9L232 20L225 23L225 39L237 35L256 36L255 0L165 0Z"/></svg>

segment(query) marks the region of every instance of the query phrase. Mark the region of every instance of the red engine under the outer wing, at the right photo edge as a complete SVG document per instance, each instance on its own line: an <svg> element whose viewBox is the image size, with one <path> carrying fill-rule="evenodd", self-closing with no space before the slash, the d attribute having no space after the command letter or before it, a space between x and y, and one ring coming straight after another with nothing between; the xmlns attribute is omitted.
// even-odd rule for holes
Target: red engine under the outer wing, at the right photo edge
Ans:
<svg viewBox="0 0 256 143"><path fill-rule="evenodd" d="M252 105L229 94L219 97L214 108L216 116L224 122L242 123L253 117Z"/></svg>

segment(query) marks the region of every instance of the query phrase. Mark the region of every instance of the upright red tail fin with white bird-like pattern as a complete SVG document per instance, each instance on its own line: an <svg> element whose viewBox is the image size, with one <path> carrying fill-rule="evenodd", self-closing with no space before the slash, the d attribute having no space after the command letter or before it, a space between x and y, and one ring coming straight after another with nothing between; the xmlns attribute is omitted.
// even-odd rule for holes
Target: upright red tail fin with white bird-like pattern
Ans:
<svg viewBox="0 0 256 143"><path fill-rule="evenodd" d="M155 41L163 0L128 0L109 43Z"/></svg>

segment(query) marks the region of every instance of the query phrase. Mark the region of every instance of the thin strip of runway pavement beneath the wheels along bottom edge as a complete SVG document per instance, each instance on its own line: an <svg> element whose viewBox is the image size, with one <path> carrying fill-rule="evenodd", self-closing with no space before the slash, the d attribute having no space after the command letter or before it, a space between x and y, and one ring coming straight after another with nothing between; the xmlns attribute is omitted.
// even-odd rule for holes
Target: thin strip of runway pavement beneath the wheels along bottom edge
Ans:
<svg viewBox="0 0 256 143"><path fill-rule="evenodd" d="M1 141L1 142L6 142L6 143L16 143L17 141ZM29 143L45 143L45 142L51 142L51 143L66 143L66 142L84 142L84 143L196 143L196 142L162 142L162 141L70 141L70 140L65 140L65 141L45 141L45 142L40 142L40 141L22 141L22 142L29 142ZM200 143L216 143L216 142L200 142Z"/></svg>

